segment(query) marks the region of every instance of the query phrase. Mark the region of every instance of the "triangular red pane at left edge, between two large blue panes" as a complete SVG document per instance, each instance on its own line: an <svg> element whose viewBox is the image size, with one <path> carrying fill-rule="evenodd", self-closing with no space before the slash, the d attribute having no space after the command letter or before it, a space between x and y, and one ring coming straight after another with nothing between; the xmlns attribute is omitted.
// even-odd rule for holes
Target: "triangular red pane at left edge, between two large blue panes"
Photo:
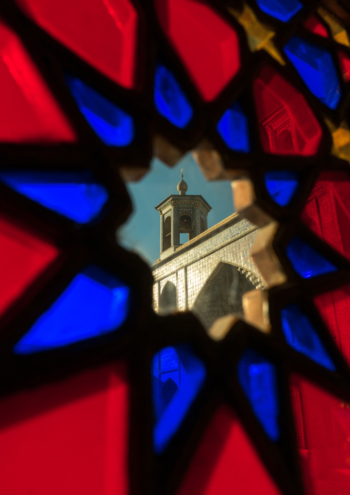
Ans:
<svg viewBox="0 0 350 495"><path fill-rule="evenodd" d="M0 314L58 256L59 251L32 232L0 218Z"/></svg>

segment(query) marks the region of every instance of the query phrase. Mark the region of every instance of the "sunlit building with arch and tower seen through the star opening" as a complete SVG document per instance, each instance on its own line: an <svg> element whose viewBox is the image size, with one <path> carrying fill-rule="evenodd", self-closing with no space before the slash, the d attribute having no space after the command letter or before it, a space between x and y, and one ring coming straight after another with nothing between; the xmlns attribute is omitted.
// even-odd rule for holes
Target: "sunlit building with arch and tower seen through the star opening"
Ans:
<svg viewBox="0 0 350 495"><path fill-rule="evenodd" d="M211 207L202 196L187 196L181 179L180 194L156 206L161 214L161 257L152 265L154 310L192 310L209 328L220 316L242 314L243 294L265 287L250 256L258 228L234 213L207 229ZM182 245L181 232L189 234Z"/></svg>

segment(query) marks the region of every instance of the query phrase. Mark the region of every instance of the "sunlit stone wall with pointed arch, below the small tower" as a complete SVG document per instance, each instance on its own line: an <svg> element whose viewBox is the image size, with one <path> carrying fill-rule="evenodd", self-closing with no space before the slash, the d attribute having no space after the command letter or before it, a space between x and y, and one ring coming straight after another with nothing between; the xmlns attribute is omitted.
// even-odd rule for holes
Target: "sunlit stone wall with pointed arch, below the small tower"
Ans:
<svg viewBox="0 0 350 495"><path fill-rule="evenodd" d="M178 247L167 259L156 261L152 265L154 310L166 312L164 301L168 299L164 291L170 287L167 282L171 282L176 287L176 309L178 311L192 310L192 308L198 311L200 308L198 298L203 299L203 294L207 293L207 298L205 301L203 299L203 303L214 305L208 310L211 316L221 316L223 312L227 313L227 305L224 307L220 305L220 301L214 302L213 290L208 299L209 285L220 283L220 279L223 279L223 271L220 269L222 267L226 269L227 265L232 267L233 273L231 275L233 283L230 281L231 287L229 288L231 299L237 297L237 294L241 299L242 291L245 292L249 288L264 287L258 269L249 254L257 234L258 228L255 225L246 219L241 219L238 214L232 214L196 236L192 241ZM216 276L218 272L221 273L220 276ZM167 287L165 287L166 284ZM171 288L174 289L174 287ZM226 292L221 290L222 299L226 296L229 298L230 294ZM229 307L239 305L241 301L236 301Z"/></svg>

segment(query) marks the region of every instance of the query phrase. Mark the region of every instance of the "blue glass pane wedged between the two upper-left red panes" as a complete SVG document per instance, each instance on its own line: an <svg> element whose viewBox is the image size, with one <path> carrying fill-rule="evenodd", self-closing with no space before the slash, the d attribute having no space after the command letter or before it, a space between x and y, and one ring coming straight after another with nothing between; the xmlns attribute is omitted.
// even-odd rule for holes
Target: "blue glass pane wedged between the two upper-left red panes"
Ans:
<svg viewBox="0 0 350 495"><path fill-rule="evenodd" d="M103 143L127 146L134 140L134 121L124 110L76 77L66 76L79 110Z"/></svg>

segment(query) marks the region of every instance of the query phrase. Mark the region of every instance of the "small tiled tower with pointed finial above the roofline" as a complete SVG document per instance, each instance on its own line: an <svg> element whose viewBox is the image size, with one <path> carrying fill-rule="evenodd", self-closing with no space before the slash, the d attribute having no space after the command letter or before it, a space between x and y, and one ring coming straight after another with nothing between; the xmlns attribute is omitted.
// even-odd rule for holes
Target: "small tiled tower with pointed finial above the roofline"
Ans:
<svg viewBox="0 0 350 495"><path fill-rule="evenodd" d="M178 194L170 194L156 206L161 215L161 260L180 246L180 234L188 234L189 241L208 228L207 214L212 207L200 194L186 194L187 183L177 185Z"/></svg>

